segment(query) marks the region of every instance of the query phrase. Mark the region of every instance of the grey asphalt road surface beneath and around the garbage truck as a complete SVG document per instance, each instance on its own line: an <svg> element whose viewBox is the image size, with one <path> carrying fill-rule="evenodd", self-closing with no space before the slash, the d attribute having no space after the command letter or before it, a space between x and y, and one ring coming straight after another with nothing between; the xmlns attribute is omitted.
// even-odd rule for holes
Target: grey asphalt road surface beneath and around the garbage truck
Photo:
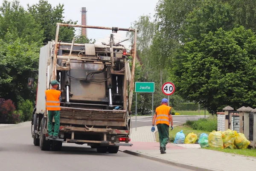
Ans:
<svg viewBox="0 0 256 171"><path fill-rule="evenodd" d="M0 128L1 171L188 171L121 151L99 154L87 145L64 143L62 151L41 151L29 124L23 125Z"/></svg>

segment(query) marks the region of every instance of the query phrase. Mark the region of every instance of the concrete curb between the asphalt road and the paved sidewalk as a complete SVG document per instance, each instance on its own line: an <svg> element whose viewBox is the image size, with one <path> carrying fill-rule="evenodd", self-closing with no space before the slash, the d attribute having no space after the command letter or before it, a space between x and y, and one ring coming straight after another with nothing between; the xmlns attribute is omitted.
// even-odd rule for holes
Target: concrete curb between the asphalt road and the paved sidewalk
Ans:
<svg viewBox="0 0 256 171"><path fill-rule="evenodd" d="M122 151L122 150L119 150L119 151ZM186 169L190 169L190 170L194 170L194 171L216 171L216 170L212 170L212 169L209 169L209 168L204 168L204 167L200 167L200 166L198 167L198 166L195 166L195 165L189 165L189 164L182 163L182 162L165 160L165 159L153 157L153 156L150 156L150 155L147 155L147 154L141 154L141 153L134 152L134 151L124 150L122 152L124 152L126 154L131 154L131 155L134 155L134 156L137 156L137 157L143 157L145 159L154 160L154 161L157 161L157 162L162 162L162 163L165 163L165 164L174 165L174 166L177 166L177 167L180 167L180 168L186 168Z"/></svg>

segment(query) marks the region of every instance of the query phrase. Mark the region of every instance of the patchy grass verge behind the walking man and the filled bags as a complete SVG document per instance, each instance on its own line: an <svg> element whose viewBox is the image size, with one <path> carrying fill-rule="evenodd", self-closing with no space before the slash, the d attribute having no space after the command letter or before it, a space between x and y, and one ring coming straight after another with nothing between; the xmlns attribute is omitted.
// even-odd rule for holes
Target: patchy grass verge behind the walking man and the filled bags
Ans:
<svg viewBox="0 0 256 171"><path fill-rule="evenodd" d="M202 133L209 134L210 133L209 131L194 130L193 128L191 128L188 125L175 126L172 131L171 131L171 128L169 128L169 137L170 137L169 142L174 142L176 133L180 132L181 130L183 130L183 133L185 134L185 136L187 136L189 133L194 132L194 134L197 134L198 140L199 140L200 134L202 134ZM159 142L158 131L155 133L155 136L156 136L157 142Z"/></svg>

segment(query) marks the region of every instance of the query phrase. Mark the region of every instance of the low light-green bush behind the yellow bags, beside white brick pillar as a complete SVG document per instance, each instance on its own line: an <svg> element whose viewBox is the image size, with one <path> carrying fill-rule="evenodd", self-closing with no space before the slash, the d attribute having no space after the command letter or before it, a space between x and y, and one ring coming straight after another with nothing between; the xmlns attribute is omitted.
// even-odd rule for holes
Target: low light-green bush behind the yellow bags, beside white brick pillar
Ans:
<svg viewBox="0 0 256 171"><path fill-rule="evenodd" d="M211 116L207 119L201 118L196 121L186 121L186 125L189 125L193 129L201 130L201 131L209 131L212 132L213 130L217 131L217 117Z"/></svg>

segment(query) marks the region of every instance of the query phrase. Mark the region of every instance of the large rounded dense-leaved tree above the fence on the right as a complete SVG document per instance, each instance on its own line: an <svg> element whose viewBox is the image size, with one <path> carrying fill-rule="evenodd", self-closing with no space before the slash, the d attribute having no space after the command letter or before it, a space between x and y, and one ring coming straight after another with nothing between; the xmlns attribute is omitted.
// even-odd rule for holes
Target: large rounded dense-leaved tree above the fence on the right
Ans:
<svg viewBox="0 0 256 171"><path fill-rule="evenodd" d="M255 45L256 35L242 26L185 43L174 60L177 90L213 113L226 105L255 106Z"/></svg>

